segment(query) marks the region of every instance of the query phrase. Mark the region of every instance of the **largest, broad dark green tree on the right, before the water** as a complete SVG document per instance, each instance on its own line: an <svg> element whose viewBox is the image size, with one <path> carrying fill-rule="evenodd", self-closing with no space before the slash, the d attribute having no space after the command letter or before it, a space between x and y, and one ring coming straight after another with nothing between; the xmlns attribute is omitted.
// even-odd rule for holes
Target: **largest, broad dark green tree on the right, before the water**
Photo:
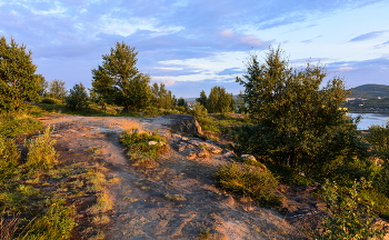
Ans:
<svg viewBox="0 0 389 240"><path fill-rule="evenodd" d="M241 131L240 147L305 173L326 174L362 156L366 146L341 108L350 91L337 77L320 89L326 76L320 64L292 69L280 48L270 49L263 63L250 54L237 81L255 124Z"/></svg>

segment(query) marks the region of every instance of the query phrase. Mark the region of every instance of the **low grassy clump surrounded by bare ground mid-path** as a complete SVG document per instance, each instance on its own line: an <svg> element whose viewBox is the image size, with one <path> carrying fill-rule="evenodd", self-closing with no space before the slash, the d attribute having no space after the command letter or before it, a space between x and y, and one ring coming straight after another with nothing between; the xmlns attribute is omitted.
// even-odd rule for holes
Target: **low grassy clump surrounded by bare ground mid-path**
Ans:
<svg viewBox="0 0 389 240"><path fill-rule="evenodd" d="M152 166L158 156L167 148L167 141L157 132L151 134L126 131L120 142L127 147L127 156L137 166Z"/></svg>

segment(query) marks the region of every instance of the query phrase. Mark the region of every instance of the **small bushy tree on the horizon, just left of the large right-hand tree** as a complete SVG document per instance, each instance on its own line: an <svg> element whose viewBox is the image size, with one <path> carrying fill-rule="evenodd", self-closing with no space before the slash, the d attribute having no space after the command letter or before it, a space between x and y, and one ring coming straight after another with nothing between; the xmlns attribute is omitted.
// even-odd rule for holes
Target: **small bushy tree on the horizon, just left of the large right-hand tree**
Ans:
<svg viewBox="0 0 389 240"><path fill-rule="evenodd" d="M223 87L213 87L208 97L207 109L210 113L215 112L229 112L233 110L232 94L227 93Z"/></svg>

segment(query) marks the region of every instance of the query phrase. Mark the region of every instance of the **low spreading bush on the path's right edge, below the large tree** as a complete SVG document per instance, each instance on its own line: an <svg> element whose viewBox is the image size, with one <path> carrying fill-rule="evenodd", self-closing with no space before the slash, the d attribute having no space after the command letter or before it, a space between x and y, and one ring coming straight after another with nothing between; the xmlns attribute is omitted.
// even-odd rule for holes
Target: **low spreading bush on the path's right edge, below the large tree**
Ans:
<svg viewBox="0 0 389 240"><path fill-rule="evenodd" d="M215 174L221 188L255 198L259 203L275 204L279 197L275 193L278 181L265 167L230 163Z"/></svg>

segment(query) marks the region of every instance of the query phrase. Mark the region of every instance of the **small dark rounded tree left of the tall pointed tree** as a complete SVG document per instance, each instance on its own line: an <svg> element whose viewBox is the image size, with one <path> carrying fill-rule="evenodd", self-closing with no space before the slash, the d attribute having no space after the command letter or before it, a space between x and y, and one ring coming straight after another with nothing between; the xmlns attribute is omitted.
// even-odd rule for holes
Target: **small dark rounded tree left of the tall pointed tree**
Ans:
<svg viewBox="0 0 389 240"><path fill-rule="evenodd" d="M71 110L82 110L89 107L89 97L86 87L80 82L69 90L66 98L67 107Z"/></svg>

